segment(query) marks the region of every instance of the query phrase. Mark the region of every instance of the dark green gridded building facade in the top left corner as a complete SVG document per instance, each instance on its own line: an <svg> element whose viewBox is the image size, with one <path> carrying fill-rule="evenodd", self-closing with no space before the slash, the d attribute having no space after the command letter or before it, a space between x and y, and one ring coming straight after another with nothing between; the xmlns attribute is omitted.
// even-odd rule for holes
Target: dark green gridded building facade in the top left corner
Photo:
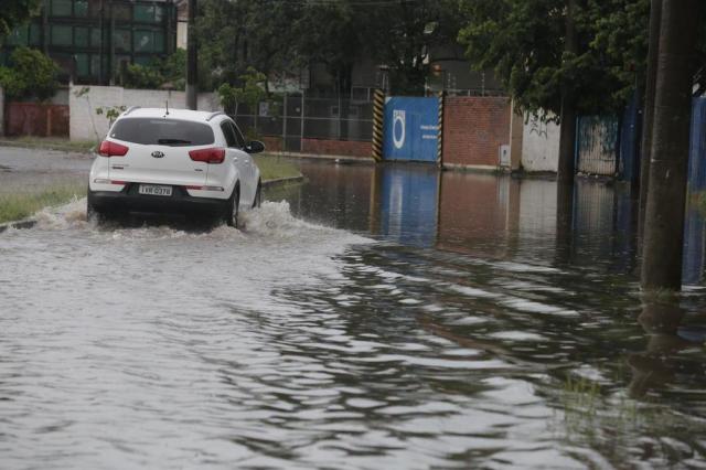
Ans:
<svg viewBox="0 0 706 470"><path fill-rule="evenodd" d="M146 65L174 51L175 1L43 0L29 24L0 41L0 64L24 45L52 57L63 82L118 83L125 64Z"/></svg>

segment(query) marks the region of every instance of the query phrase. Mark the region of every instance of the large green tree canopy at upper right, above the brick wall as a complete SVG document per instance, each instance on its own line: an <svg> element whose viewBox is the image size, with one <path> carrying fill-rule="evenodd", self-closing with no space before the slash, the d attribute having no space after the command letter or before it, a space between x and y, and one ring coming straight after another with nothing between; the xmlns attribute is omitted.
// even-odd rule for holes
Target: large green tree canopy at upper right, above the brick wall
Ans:
<svg viewBox="0 0 706 470"><path fill-rule="evenodd" d="M565 51L566 0L463 0L459 39L477 68L494 68L520 108L560 111L560 89L579 113L620 108L644 71L649 0L576 0L578 53Z"/></svg>

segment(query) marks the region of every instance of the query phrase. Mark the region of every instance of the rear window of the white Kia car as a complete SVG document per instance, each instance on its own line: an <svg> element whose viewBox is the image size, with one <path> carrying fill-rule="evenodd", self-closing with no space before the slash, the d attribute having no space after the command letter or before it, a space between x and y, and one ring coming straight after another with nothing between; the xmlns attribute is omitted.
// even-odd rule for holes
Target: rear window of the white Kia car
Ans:
<svg viewBox="0 0 706 470"><path fill-rule="evenodd" d="M207 124L164 118L124 118L110 130L110 137L145 146L207 146L214 142Z"/></svg>

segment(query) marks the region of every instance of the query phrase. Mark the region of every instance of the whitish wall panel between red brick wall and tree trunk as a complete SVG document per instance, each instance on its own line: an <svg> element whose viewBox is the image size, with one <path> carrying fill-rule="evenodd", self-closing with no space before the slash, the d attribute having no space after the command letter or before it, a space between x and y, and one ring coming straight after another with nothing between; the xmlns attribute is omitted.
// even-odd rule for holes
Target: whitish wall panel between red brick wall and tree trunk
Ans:
<svg viewBox="0 0 706 470"><path fill-rule="evenodd" d="M530 117L522 136L522 167L525 171L557 171L559 165L559 129L555 122Z"/></svg>

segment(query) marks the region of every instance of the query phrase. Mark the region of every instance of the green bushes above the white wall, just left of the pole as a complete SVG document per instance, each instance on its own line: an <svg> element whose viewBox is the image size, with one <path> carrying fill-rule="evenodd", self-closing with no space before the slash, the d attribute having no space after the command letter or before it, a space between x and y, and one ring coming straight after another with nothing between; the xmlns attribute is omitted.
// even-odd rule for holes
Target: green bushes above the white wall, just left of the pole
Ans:
<svg viewBox="0 0 706 470"><path fill-rule="evenodd" d="M169 87L184 89L186 85L186 52L176 50L163 60L154 60L149 65L129 64L122 85L127 88L156 89Z"/></svg>

